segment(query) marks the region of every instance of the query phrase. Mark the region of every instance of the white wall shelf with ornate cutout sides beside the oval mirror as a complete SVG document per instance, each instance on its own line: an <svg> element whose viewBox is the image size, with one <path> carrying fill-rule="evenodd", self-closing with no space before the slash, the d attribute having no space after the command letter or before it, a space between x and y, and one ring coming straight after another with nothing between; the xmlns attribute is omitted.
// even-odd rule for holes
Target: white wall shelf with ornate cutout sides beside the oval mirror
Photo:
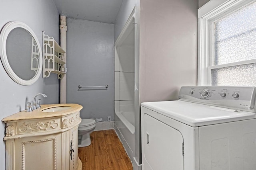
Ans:
<svg viewBox="0 0 256 170"><path fill-rule="evenodd" d="M66 53L53 37L44 34L43 31L43 77L49 77L50 73L58 74L58 79L63 78L65 72L64 53Z"/></svg>

